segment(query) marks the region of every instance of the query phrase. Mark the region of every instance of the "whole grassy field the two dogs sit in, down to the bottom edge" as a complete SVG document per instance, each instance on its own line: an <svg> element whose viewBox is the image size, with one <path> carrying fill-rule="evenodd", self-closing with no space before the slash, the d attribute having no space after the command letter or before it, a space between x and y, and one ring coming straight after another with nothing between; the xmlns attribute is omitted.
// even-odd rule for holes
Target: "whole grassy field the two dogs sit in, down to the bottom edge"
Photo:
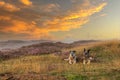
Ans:
<svg viewBox="0 0 120 80"><path fill-rule="evenodd" d="M77 56L83 48L91 49L95 61L68 64L64 61L69 50L76 50ZM103 41L63 49L63 53L29 55L0 60L0 80L120 80L120 41Z"/></svg>

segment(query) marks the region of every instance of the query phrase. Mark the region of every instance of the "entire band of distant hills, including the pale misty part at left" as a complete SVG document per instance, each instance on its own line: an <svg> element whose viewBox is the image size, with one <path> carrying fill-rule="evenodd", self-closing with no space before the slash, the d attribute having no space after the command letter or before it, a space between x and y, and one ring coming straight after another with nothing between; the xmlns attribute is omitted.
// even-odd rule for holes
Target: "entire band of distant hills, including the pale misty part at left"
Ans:
<svg viewBox="0 0 120 80"><path fill-rule="evenodd" d="M61 52L63 49L70 49L80 45L87 45L89 43L98 42L95 40L76 41L73 43L53 42L47 40L34 40L34 41L6 41L2 42L2 48L8 47L8 49L2 49L0 52L1 58L13 58L22 55L41 55ZM15 47L14 49L11 49ZM16 49L17 48L17 49Z"/></svg>

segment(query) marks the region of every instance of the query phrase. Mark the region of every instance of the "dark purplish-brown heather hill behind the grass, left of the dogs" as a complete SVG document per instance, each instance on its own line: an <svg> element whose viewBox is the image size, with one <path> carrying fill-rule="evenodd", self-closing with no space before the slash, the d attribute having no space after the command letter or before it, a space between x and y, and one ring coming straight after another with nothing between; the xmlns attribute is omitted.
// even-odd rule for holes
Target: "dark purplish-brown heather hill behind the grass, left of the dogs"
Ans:
<svg viewBox="0 0 120 80"><path fill-rule="evenodd" d="M29 46L23 46L18 49L5 50L0 52L0 58L9 59L19 57L22 55L40 55L49 54L54 52L61 52L62 49L71 48L72 46L62 42L43 42L32 44Z"/></svg>

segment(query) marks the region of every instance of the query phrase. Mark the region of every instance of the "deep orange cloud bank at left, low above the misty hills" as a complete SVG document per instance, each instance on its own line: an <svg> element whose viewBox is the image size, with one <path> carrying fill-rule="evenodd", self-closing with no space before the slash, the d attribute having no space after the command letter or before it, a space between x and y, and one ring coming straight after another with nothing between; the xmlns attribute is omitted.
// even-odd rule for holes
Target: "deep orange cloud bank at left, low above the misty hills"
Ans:
<svg viewBox="0 0 120 80"><path fill-rule="evenodd" d="M5 33L15 33L15 34L28 34L28 38L41 38L43 36L48 36L48 30L40 29L33 22L26 23L24 21L9 19L12 25L0 29L0 32Z"/></svg>

